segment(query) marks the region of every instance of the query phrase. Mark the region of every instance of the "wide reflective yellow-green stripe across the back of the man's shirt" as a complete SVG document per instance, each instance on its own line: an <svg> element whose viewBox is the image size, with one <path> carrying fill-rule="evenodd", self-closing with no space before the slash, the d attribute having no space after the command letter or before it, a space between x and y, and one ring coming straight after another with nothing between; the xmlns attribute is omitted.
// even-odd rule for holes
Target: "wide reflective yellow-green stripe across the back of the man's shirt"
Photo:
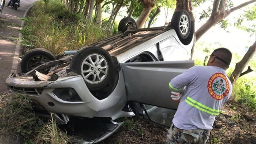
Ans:
<svg viewBox="0 0 256 144"><path fill-rule="evenodd" d="M188 103L189 105L191 105L191 106L197 108L198 110L203 111L203 112L205 112L205 113L208 113L208 114L210 114L210 115L218 115L218 114L221 112L221 110L212 109L211 107L208 107L208 106L206 106L206 105L203 105L203 104L201 104L200 102L195 101L195 100L193 100L193 99L190 98L190 97L187 97L187 99L185 100L185 102Z"/></svg>

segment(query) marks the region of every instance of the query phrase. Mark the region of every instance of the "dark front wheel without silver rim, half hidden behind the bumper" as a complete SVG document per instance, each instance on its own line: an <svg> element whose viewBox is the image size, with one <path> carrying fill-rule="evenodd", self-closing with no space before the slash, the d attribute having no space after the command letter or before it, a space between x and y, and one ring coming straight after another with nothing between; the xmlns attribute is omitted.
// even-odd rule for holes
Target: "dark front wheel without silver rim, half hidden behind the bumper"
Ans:
<svg viewBox="0 0 256 144"><path fill-rule="evenodd" d="M26 73L48 61L56 60L55 56L46 49L35 48L28 51L20 63L22 72Z"/></svg>

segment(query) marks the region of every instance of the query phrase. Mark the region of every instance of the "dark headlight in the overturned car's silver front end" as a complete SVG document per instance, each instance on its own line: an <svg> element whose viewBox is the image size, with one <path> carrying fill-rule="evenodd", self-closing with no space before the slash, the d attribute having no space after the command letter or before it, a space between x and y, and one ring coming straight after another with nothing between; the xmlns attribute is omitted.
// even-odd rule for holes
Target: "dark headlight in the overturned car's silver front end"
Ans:
<svg viewBox="0 0 256 144"><path fill-rule="evenodd" d="M60 99L65 101L82 101L77 92L73 88L56 88L53 93Z"/></svg>

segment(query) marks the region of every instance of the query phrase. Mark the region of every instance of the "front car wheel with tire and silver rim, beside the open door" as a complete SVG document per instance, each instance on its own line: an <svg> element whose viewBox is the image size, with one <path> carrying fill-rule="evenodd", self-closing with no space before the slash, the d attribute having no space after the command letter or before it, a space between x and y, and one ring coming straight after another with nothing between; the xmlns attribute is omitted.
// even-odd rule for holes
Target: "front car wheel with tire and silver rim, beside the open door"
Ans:
<svg viewBox="0 0 256 144"><path fill-rule="evenodd" d="M99 90L107 85L113 85L111 82L118 76L110 54L97 46L87 46L77 51L70 69L83 76L89 90Z"/></svg>

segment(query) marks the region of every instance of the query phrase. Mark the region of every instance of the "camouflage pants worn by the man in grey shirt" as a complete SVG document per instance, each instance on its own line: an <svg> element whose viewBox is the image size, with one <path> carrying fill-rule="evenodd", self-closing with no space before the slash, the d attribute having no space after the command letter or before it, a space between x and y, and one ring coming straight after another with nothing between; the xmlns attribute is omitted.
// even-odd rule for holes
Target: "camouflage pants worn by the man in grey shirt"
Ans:
<svg viewBox="0 0 256 144"><path fill-rule="evenodd" d="M171 125L166 136L165 144L205 144L211 130L193 129L182 130Z"/></svg>

